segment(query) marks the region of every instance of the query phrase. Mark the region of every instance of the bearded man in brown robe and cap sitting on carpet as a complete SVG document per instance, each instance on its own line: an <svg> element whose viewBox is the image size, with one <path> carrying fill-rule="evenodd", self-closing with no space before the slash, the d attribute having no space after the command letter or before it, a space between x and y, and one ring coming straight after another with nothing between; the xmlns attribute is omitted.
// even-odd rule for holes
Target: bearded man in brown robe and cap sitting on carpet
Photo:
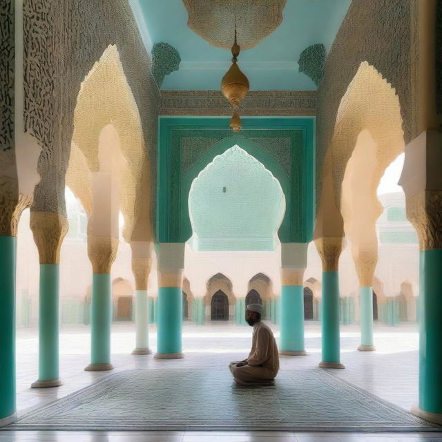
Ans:
<svg viewBox="0 0 442 442"><path fill-rule="evenodd" d="M278 347L271 329L261 322L262 305L249 304L246 321L253 325L251 352L247 359L229 365L238 385L273 385L279 369Z"/></svg>

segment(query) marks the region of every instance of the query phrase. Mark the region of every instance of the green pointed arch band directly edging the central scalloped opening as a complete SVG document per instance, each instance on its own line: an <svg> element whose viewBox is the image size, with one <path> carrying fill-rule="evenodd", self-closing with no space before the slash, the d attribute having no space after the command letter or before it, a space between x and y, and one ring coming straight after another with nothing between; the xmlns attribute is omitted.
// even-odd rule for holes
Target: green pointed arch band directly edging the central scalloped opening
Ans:
<svg viewBox="0 0 442 442"><path fill-rule="evenodd" d="M249 155L256 158L265 168L271 172L282 188L285 195L285 214L278 230L278 236L281 242L290 242L291 236L291 189L290 178L282 166L262 148L258 143L242 137L241 135L233 135L224 138L220 142L214 144L209 151L206 151L198 160L196 160L186 171L182 177L181 195L180 195L180 237L184 241L192 236L191 220L189 217L189 193L193 180L200 174L200 172L211 163L213 159L222 155L229 148L238 144L240 148L244 149Z"/></svg>

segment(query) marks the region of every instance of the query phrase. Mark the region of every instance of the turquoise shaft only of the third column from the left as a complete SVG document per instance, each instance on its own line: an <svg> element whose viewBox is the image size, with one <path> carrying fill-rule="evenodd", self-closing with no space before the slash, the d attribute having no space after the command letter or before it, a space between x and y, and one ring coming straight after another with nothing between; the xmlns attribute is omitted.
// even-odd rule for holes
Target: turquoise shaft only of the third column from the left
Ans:
<svg viewBox="0 0 442 442"><path fill-rule="evenodd" d="M111 275L94 273L90 302L90 363L111 363Z"/></svg>

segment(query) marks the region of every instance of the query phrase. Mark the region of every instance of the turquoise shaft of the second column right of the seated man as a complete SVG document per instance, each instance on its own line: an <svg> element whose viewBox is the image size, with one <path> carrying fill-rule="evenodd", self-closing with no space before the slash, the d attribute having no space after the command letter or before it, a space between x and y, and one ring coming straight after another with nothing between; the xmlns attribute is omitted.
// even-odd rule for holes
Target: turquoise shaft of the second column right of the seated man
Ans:
<svg viewBox="0 0 442 442"><path fill-rule="evenodd" d="M323 362L340 362L338 271L323 271L321 301Z"/></svg>

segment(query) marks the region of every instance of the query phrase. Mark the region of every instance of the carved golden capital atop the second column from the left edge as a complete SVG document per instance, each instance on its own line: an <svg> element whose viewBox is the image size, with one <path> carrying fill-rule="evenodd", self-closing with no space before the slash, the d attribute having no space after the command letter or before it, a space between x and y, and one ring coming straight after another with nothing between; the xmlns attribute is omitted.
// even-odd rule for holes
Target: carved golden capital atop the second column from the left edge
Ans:
<svg viewBox="0 0 442 442"><path fill-rule="evenodd" d="M68 220L54 212L30 212L30 228L39 250L40 264L59 264L61 243L68 232Z"/></svg>

